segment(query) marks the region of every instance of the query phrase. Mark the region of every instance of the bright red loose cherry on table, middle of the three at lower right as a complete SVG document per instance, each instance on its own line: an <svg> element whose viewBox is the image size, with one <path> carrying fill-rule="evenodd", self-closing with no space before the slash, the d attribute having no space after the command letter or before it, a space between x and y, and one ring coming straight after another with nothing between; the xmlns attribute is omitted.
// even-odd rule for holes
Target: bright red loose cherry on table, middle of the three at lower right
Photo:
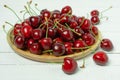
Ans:
<svg viewBox="0 0 120 80"><path fill-rule="evenodd" d="M105 65L108 62L108 56L105 52L99 51L93 55L93 60L98 65Z"/></svg>

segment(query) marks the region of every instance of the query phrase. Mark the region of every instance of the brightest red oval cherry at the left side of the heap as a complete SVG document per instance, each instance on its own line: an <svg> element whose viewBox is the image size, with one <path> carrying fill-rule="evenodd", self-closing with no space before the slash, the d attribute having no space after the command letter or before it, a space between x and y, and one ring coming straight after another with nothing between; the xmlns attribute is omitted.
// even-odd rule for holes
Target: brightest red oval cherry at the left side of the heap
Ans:
<svg viewBox="0 0 120 80"><path fill-rule="evenodd" d="M32 27L30 25L24 25L21 28L21 34L25 38L30 38L32 33Z"/></svg>

